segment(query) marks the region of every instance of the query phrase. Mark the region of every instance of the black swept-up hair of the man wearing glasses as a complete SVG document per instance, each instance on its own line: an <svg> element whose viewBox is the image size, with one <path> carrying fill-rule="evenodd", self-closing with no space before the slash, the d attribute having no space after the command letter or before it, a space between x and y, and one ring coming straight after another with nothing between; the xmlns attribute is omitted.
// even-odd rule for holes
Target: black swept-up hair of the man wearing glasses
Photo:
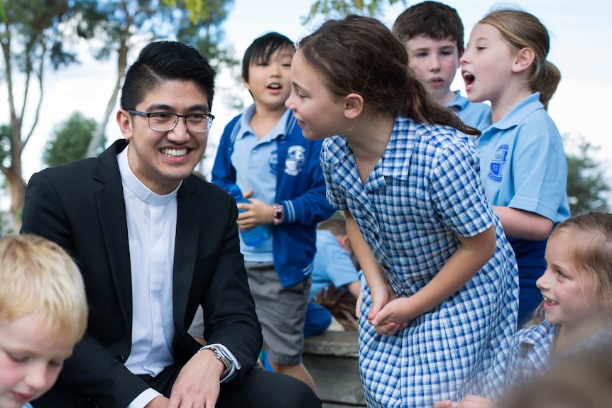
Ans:
<svg viewBox="0 0 612 408"><path fill-rule="evenodd" d="M177 41L155 41L141 50L126 72L121 109L135 109L151 91L167 81L193 81L206 94L212 109L214 76L209 62L193 47Z"/></svg>

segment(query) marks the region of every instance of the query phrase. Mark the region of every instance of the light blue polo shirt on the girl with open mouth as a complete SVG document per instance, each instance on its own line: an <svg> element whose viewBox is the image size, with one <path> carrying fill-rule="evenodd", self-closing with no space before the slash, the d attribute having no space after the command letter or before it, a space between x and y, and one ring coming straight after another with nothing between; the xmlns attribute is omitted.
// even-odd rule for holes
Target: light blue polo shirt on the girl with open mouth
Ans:
<svg viewBox="0 0 612 408"><path fill-rule="evenodd" d="M491 204L531 211L555 223L569 217L567 159L539 92L486 128L478 151Z"/></svg>

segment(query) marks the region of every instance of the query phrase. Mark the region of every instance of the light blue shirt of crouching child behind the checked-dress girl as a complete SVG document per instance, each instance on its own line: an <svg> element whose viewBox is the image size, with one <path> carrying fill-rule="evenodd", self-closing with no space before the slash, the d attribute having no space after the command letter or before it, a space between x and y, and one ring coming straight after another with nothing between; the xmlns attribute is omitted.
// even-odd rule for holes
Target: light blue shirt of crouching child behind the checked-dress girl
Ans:
<svg viewBox="0 0 612 408"><path fill-rule="evenodd" d="M359 280L359 275L351 255L342 248L333 233L317 230L317 253L315 268L312 270L310 299L330 284L342 287L356 280Z"/></svg>

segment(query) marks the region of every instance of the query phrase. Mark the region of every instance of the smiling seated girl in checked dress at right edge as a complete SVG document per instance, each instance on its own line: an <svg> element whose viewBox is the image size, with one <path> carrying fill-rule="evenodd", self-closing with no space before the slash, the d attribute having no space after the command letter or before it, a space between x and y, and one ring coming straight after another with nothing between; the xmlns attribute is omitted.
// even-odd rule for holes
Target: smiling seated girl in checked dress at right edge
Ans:
<svg viewBox="0 0 612 408"><path fill-rule="evenodd" d="M555 227L546 245L547 268L536 282L544 300L531 324L508 338L483 384L474 389L478 395L467 395L459 404L437 402L435 408L494 408L501 395L528 385L554 360L609 344L611 248L611 214L580 214Z"/></svg>

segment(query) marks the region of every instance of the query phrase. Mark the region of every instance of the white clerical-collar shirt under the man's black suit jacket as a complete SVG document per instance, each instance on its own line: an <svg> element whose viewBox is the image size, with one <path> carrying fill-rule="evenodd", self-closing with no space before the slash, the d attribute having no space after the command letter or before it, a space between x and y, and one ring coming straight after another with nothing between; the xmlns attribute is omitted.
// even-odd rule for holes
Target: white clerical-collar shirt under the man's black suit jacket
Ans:
<svg viewBox="0 0 612 408"><path fill-rule="evenodd" d="M125 365L131 373L155 376L174 362L172 277L180 184L163 196L151 192L131 171L128 149L117 155L132 282L132 346ZM142 408L158 395L152 388L145 390L129 408Z"/></svg>

